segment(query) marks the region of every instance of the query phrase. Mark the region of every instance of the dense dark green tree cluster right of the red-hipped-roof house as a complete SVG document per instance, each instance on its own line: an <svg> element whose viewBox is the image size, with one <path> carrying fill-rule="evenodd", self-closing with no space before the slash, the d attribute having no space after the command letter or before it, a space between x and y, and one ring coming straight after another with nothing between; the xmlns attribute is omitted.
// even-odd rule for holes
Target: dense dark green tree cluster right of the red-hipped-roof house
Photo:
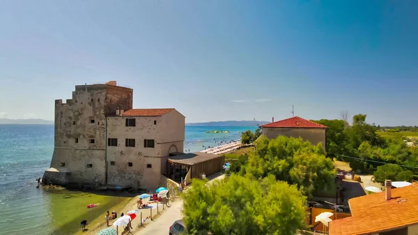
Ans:
<svg viewBox="0 0 418 235"><path fill-rule="evenodd" d="M374 174L376 181L382 182L384 179L381 177L385 174L389 176L393 167L380 166L392 163L396 165L398 181L408 181L414 174L418 174L418 168L415 168L418 167L418 151L405 143L407 138L404 132L385 132L396 135L381 135L378 132L379 126L366 123L366 114L353 116L352 126L342 120L321 119L316 122L329 128L327 156L350 162L355 172Z"/></svg>

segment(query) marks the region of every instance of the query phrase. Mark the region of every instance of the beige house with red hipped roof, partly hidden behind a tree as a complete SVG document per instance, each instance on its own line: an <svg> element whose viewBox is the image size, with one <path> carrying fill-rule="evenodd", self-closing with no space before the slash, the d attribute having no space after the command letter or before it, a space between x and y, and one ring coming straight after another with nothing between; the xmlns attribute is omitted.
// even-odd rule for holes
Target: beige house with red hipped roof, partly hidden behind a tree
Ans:
<svg viewBox="0 0 418 235"><path fill-rule="evenodd" d="M262 133L269 139L274 139L280 135L286 137L301 137L314 145L319 143L325 148L327 143L327 126L320 125L299 116L284 119L261 126Z"/></svg>

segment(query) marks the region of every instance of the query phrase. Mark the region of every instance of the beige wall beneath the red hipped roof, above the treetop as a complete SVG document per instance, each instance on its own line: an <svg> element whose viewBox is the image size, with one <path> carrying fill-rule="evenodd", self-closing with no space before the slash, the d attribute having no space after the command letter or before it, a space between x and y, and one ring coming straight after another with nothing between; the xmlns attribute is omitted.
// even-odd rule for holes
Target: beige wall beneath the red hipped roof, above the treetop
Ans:
<svg viewBox="0 0 418 235"><path fill-rule="evenodd" d="M301 137L314 145L322 143L326 146L326 129L323 128L263 128L263 135L269 139L274 139L280 135L286 137Z"/></svg>

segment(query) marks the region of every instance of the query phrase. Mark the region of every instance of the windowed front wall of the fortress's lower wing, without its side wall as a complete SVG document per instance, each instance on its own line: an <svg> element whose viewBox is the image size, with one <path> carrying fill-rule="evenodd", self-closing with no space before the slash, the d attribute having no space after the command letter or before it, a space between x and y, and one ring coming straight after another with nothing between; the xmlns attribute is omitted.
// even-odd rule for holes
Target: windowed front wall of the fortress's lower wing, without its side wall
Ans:
<svg viewBox="0 0 418 235"><path fill-rule="evenodd" d="M127 118L135 119L135 126L125 126ZM154 121L162 117L125 117L107 118L107 138L118 139L118 146L107 146L107 179L109 184L130 187L149 188L157 185L161 174L161 147L158 144L160 132ZM125 139L135 139L134 147L125 146ZM154 148L144 148L144 139L155 139ZM111 165L111 162L115 165ZM132 162L132 167L128 164ZM147 165L151 164L150 168ZM147 176L148 179L145 179ZM157 183L153 180L157 179Z"/></svg>

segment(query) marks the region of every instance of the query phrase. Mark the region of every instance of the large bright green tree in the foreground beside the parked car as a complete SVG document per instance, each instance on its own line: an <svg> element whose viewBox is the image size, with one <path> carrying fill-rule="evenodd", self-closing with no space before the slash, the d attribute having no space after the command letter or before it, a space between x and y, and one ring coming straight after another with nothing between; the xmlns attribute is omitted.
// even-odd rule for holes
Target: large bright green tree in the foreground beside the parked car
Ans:
<svg viewBox="0 0 418 235"><path fill-rule="evenodd" d="M274 176L254 181L233 174L210 185L194 179L192 185L183 195L189 234L294 235L304 227L306 198Z"/></svg>

